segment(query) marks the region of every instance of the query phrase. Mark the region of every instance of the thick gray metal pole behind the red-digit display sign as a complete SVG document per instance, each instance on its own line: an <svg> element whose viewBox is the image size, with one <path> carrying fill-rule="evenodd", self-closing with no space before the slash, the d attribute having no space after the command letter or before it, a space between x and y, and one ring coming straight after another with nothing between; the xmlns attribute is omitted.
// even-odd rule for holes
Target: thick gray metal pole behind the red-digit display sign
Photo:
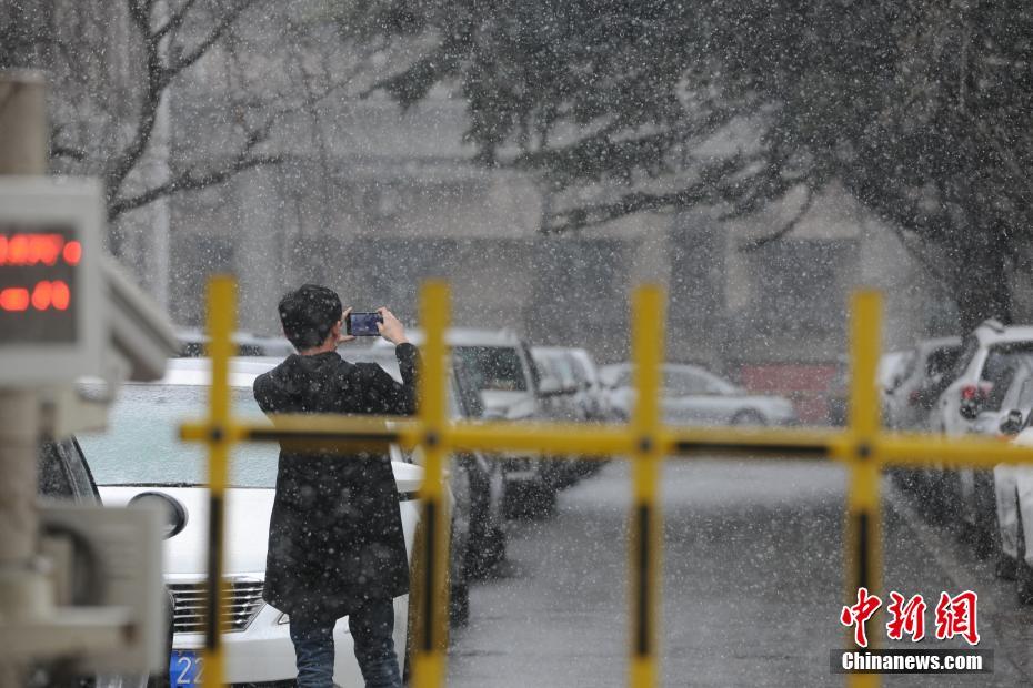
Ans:
<svg viewBox="0 0 1033 688"><path fill-rule="evenodd" d="M43 75L0 71L0 174L47 174L49 138ZM0 613L9 611L12 603L31 606L24 598L34 598L39 586L33 570L39 435L36 391L0 388ZM32 613L21 613L26 611ZM2 661L2 652L0 648L0 688L16 688L21 685L19 668Z"/></svg>

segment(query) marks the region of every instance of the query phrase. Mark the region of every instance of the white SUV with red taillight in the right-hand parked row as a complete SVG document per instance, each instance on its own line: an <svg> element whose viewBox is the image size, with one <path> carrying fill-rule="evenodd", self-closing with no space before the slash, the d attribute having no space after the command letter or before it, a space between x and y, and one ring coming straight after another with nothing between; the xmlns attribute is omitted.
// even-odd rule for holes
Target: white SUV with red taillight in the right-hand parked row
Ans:
<svg viewBox="0 0 1033 688"><path fill-rule="evenodd" d="M1033 354L1033 326L1004 326L985 321L964 338L952 381L931 414L931 429L947 436L972 431L983 411L1000 407L1005 376L1020 358ZM995 389L996 387L996 389ZM925 472L927 498L941 520L970 519L975 476L971 469ZM959 506L961 505L961 507Z"/></svg>

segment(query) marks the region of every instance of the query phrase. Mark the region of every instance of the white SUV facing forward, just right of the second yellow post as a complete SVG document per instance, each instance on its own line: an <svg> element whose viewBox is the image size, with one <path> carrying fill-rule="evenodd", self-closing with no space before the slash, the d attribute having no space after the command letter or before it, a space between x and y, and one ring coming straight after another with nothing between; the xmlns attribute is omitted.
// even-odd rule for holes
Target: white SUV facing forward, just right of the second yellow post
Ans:
<svg viewBox="0 0 1033 688"><path fill-rule="evenodd" d="M407 331L409 341L420 346L423 333ZM469 384L480 391L487 417L525 422L545 419L538 368L530 346L511 330L452 327L445 334L455 365ZM391 344L378 338L373 348ZM505 454L505 508L511 516L550 513L564 469L551 459Z"/></svg>

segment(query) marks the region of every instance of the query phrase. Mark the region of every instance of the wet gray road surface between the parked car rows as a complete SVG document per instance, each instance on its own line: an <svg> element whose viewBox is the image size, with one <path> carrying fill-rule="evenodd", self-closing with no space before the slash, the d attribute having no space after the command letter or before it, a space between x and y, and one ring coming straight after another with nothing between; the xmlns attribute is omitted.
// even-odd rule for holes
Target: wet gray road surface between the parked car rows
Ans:
<svg viewBox="0 0 1033 688"><path fill-rule="evenodd" d="M664 686L843 685L829 651L844 638L844 480L838 466L804 462L668 465ZM1020 608L1014 584L995 579L885 484L886 589L925 596L929 636L941 590L976 590L980 648L994 650L995 671L892 676L884 685L1033 682L1033 609ZM513 524L509 560L474 584L470 625L453 634L449 686L626 685L629 490L626 465L613 463L563 493L553 517Z"/></svg>

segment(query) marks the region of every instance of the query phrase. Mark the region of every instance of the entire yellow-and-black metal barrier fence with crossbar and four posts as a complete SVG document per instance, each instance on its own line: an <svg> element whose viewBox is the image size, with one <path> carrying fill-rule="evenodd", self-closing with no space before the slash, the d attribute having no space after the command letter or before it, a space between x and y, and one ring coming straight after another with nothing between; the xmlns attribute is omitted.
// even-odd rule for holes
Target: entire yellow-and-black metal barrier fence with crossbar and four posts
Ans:
<svg viewBox="0 0 1033 688"><path fill-rule="evenodd" d="M660 411L660 364L663 361L664 299L656 286L633 295L632 332L635 407L623 425L585 426L556 423L468 423L447 413L445 330L449 289L429 282L421 291L420 322L425 332L419 378L420 405L413 418L282 415L268 423L233 417L230 409L229 360L233 353L235 284L215 277L209 285L208 327L211 335L212 385L208 418L184 423L185 441L205 443L210 452L211 517L209 525L210 609L207 624L205 686L223 684L221 639L217 620L223 591L223 499L230 448L240 442L280 442L297 448L385 449L389 444L422 446L425 479L420 489L421 528L417 543L422 567L415 573L415 618L412 685L438 688L445 679L447 598L441 591L449 561L444 465L453 452L529 452L584 458L618 457L632 462L633 500L630 518L629 685L659 685L658 627L661 598L661 510L659 482L665 457L808 457L843 462L850 471L846 500L844 584L848 604L859 587L882 589L880 476L887 465L990 468L999 463L1033 463L1033 448L991 439L886 433L880 427L876 366L880 358L881 299L876 292L854 295L851 308L850 418L844 429L739 429L665 426ZM445 593L447 594L447 593ZM835 623L831 619L830 623ZM874 619L867 621L874 638ZM846 634L844 634L844 638ZM852 643L852 639L850 640ZM877 686L877 675L848 675L851 686Z"/></svg>

